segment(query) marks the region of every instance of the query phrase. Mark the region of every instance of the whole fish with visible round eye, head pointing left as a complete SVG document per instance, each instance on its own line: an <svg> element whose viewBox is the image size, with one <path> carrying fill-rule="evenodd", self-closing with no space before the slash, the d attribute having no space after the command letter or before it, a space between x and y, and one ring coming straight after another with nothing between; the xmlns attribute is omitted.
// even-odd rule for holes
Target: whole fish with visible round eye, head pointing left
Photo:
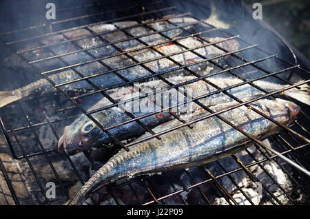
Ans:
<svg viewBox="0 0 310 219"><path fill-rule="evenodd" d="M185 81L194 80L196 77L194 76L177 76L177 77L171 77L168 78L167 81L171 82L172 84L176 85L179 83L183 83ZM225 88L231 85L236 85L238 83L242 83L240 79L236 78L209 78L208 79L211 83L214 83L215 85L218 85L218 87ZM276 83L270 83L267 81L255 81L255 85L258 85L258 87L262 87L263 89L267 91L272 90L280 90L286 87L285 85L279 85ZM148 83L141 84L142 87L147 87L152 90L156 90L156 88L165 89L165 87L168 87L167 84L163 83L161 80L157 81L150 81ZM155 107L151 109L151 112L158 112L156 114L153 114L152 116L147 116L145 118L140 119L140 121L145 124L147 127L152 128L156 125L159 125L165 121L172 120L174 116L169 114L167 110L161 111L161 108L158 109L156 106L163 107L170 107L174 106L178 103L181 103L180 105L183 108L176 108L174 112L177 112L178 114L186 114L188 113L188 109L192 111L200 110L201 107L197 105L196 103L193 103L191 107L187 108L186 105L183 106L183 102L185 101L185 96L183 96L183 93L188 94L190 92L190 96L193 98L197 98L199 96L209 94L211 92L216 92L216 88L209 85L208 83L205 83L205 81L196 81L194 83L189 83L184 86L180 86L180 92L178 92L175 88L172 88L169 90L169 92L163 92L163 97L160 99L160 101L156 101ZM305 91L303 91L305 90ZM133 88L132 87L123 87L123 91L116 89L112 95L112 98L115 100L122 100L123 103L129 102L130 106L132 105L132 94L133 94ZM242 86L235 87L234 89L227 90L229 94L233 94L237 98L240 98L241 100L246 100L248 98L254 98L255 96L265 94L264 92L256 89L255 87L245 84ZM125 95L123 95L125 94ZM299 101L303 101L304 103L310 104L310 96L309 96L309 87L308 85L302 86L302 90L298 90L297 88L293 88L290 90L287 90L283 92L284 95L291 96L293 98L298 99ZM170 95L170 96L169 96ZM168 101L165 101L168 100ZM191 101L190 99L186 98L187 101ZM149 97L141 97L138 103L150 103L152 102L152 98L149 99ZM223 104L227 102L234 101L231 97L227 96L227 94L219 93L214 94L211 96L207 96L204 98L200 98L199 102L203 103L206 107ZM99 101L92 107L90 107L89 111L99 109L101 107L105 107L108 105L111 105L110 101L107 101L106 98L103 98L102 101ZM129 109L129 112L132 111L132 108ZM138 112L134 112L134 116L142 116L144 114L147 114L147 112L141 111L141 109L138 109ZM156 110L156 111L155 111ZM102 110L100 112L96 112L92 114L94 119L98 121L103 127L110 127L113 125L117 125L118 123L124 123L125 121L129 121L131 118L127 116L121 109L119 109L117 106L112 107L108 110ZM85 132L85 129L86 132ZM113 129L110 129L109 132L114 134L116 138L120 140L124 140L126 138L134 137L134 136L140 136L145 132L145 129L136 123L136 121L132 121L130 123L114 127ZM93 121L90 120L85 115L79 116L79 118L76 118L76 120L69 126L65 127L63 136L59 139L58 143L58 151L59 152L66 152L68 154L75 154L76 152L81 152L82 150L89 149L90 147L99 147L103 144L113 143L114 140L108 136L105 132L103 132L100 127L98 127Z"/></svg>

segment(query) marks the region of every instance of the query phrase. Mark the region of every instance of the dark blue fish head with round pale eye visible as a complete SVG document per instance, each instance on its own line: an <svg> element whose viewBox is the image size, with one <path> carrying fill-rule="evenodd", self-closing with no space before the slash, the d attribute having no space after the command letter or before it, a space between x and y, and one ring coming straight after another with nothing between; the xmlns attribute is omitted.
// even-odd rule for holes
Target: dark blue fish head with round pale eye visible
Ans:
<svg viewBox="0 0 310 219"><path fill-rule="evenodd" d="M109 116L105 112L94 114L93 118L100 124L108 124ZM108 120L108 121L106 121ZM57 152L73 155L94 147L103 136L102 129L85 115L79 116L71 125L65 127L59 138Z"/></svg>

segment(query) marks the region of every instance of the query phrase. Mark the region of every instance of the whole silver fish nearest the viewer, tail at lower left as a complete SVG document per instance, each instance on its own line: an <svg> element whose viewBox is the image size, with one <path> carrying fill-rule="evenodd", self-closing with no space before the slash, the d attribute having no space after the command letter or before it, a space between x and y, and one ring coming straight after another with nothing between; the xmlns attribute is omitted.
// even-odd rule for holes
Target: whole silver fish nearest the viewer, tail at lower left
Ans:
<svg viewBox="0 0 310 219"><path fill-rule="evenodd" d="M282 99L260 100L252 103L251 106L282 125L289 125L300 112L298 105ZM223 105L218 107L211 107L211 109L214 111L223 109ZM276 124L245 106L220 115L256 138L264 138L279 131ZM196 117L191 116L189 119L193 118ZM164 126L160 125L153 130L158 133L180 124L179 121L169 121ZM83 201L96 189L118 179L128 179L132 176L165 169L203 165L214 159L236 153L238 148L244 148L240 145L248 141L247 136L212 116L194 123L192 129L182 127L174 132L163 134L161 140L151 138L133 145L130 147L130 152L121 149L83 185L70 205L82 205Z"/></svg>

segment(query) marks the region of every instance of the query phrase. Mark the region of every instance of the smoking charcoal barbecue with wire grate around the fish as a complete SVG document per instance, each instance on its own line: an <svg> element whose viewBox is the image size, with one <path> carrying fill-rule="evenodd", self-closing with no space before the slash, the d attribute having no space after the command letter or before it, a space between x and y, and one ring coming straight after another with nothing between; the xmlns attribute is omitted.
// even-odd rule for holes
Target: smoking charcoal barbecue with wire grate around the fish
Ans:
<svg viewBox="0 0 310 219"><path fill-rule="evenodd" d="M17 1L13 3L18 4L20 2ZM34 3L30 1L30 5L31 3L34 5ZM246 14L249 16L244 6L240 5L238 2L229 1L228 3L231 3L231 8L233 8L233 10L239 12L242 10L242 14L245 14L244 16L246 16ZM73 191L76 192L74 188L83 185L85 180L103 165L103 160L106 158L97 159L94 154L100 154L102 150L109 151L109 145L100 149L94 149L93 152L87 151L80 153L74 157L55 152L54 147L56 145L54 145L54 143L59 140L62 134L61 132L63 131L63 128L60 127L70 125L72 119L76 118L78 114L85 114L88 116L103 130L103 132L114 139L115 145L127 150L130 150L132 145L148 140L149 138L161 138L162 134L175 132L176 129L180 127L191 127L192 123L182 121L177 114L173 114L174 118L180 120L183 125L167 129L164 133L154 133L141 123L141 119L152 116L158 112L145 114L137 118L127 113L128 116L131 117L130 121L114 125L113 127L103 127L94 119L92 116L94 113L118 105L118 101L107 94L109 90L127 85L132 86L135 82L143 82L152 78L163 80L169 85L169 89L176 88L178 90L178 87L181 85L199 80L203 80L205 83L214 86L217 89L216 92L204 94L192 100L194 103L203 107L204 110L211 113L204 116L203 119L217 116L225 121L225 123L228 123L243 134L249 136L255 144L239 154L217 160L201 167L193 167L178 171L165 171L159 175L139 176L125 183L114 183L99 190L96 194L93 194L92 198L87 202L89 205L99 205L102 202L104 204L115 205L297 205L309 203L308 176L300 171L300 169L292 167L287 162L284 162L282 158L279 158L281 155L285 156L289 158L289 160L293 160L293 162L302 169L310 169L310 119L308 116L309 107L307 107L307 105L298 103L302 108L302 112L298 116L298 119L294 121L291 126L282 127L283 130L279 134L275 134L267 138L267 140L260 141L221 117L219 112L211 112L208 107L199 103L200 98L223 92L239 102L238 105L221 111L227 112L241 105L249 106L249 103L257 101L259 98L276 98L284 91L275 90L274 92L267 92L255 85L253 83L255 81L263 79L287 84L288 86L285 90L309 83L310 73L309 70L307 70L307 65L309 65L307 60L300 58L300 54L296 52L295 49L291 48L285 39L279 38L273 31L270 29L267 30L267 28L263 26L265 24L262 25L258 21L251 22L257 22L260 28L258 28L256 32L261 37L253 39L253 41L249 41L251 36L247 34L247 31L250 30L241 31L238 28L219 28L216 26L216 23L213 25L207 20L209 15L213 12L211 3L209 2L195 3L194 1L161 0L82 1L81 4L76 6L74 5L74 1L68 1L65 5L64 3L61 4L59 1L55 2L55 5L57 16L55 21L48 21L45 19L44 8L23 13L19 12L19 14L3 16L0 19L2 23L0 40L3 53L12 54L15 52L32 67L34 72L17 73L2 67L3 74L1 74L1 77L3 77L3 79L1 80L1 87L13 90L14 88L21 87L22 85L26 85L43 77L61 94L60 96L41 96L39 98L21 100L0 109L0 124L3 132L3 139L6 140L1 142L0 153L8 153L14 158L14 160L12 160L8 156L0 156L0 176L3 176L4 179L3 183L0 182L0 199L4 200L4 203L16 205L29 203L41 205L63 204L72 197ZM240 6L242 7L240 8ZM205 30L192 32L192 29L188 30L185 25L177 26L169 21L171 18L182 18L185 16L192 17L196 20L196 22L191 25L204 23L207 28L205 28ZM238 16L240 19L242 15L238 14ZM165 38L165 43L176 43L182 47L184 50L180 52L180 54L192 52L201 58L200 63L209 63L211 66L214 66L214 72L210 76L234 76L242 80L242 83L225 88L212 84L208 81L209 75L200 76L192 70L191 67L198 63L178 63L178 61L174 60L173 55L165 55L163 52L156 49L156 45L149 45L141 39L141 36L130 34L127 30L133 26L118 28L117 30L111 30L100 34L92 32L90 29L94 24L112 23L116 21L136 21L137 23L134 27L143 26L149 30L149 33L143 36L149 36L154 33L160 34ZM148 25L149 23L158 21L167 21L174 27L158 31ZM229 21L225 22L229 23ZM190 49L178 43L176 40L180 38L170 38L165 34L168 30L176 28L180 28L185 33L185 36L181 36L183 39L196 36L204 43L207 43L205 46L213 45L223 51L223 54L206 58L195 52L194 50L196 50L196 48ZM65 32L78 29L86 29L92 32L90 36L85 36L85 38L99 36L105 43L101 46L112 46L112 48L118 51L116 55L123 54L131 59L134 64L119 67L118 69L108 66L104 60L109 59L110 56L97 58L89 52L94 48L81 48L76 43L78 39L68 39L68 37L64 35ZM105 40L104 34L113 31L125 33L127 39L121 41ZM35 48L21 50L26 43L38 42L53 34L62 34L65 36L65 41L53 45L42 44ZM203 36L221 36L227 41L234 39L238 41L240 48L238 48L238 50L228 51L218 45L219 42L207 41ZM273 37L275 45L272 48L267 44L268 37ZM134 59L130 52L123 51L118 47L119 43L133 39L142 45L141 48L136 50L149 48L161 55L158 58L152 59L152 61L168 59L175 63L177 67L159 73L154 72L154 70L145 65L148 61L138 61ZM255 41L259 41L259 43ZM264 41L266 42L264 43ZM64 43L73 43L75 46L74 51L66 52L65 54L56 54L50 49ZM52 55L43 58L39 57L39 59L35 61L29 61L23 56L26 52L43 48L49 50ZM90 76L83 75L79 70L76 70L76 67L89 63L89 61L70 64L63 59L65 55L74 54L76 52L85 52L89 56L92 56L93 59L91 62L98 61L107 70ZM217 61L224 58L225 64L221 61ZM43 63L52 59L59 59L59 61L63 63L63 67L52 70L41 70L35 65L36 63ZM138 65L147 70L150 73L149 76L127 79L119 73L121 70ZM61 70L73 70L80 78L55 84L48 76L60 72ZM186 70L188 74L196 76L196 79L182 84L172 84L165 79L165 74L174 74L176 70ZM92 81L92 79L96 79L96 77L110 73L118 76L123 82L111 85L110 87L101 88ZM71 96L62 89L65 85L77 83L79 81L85 81L93 90L91 92L85 92L85 94ZM265 92L265 94L259 98L250 99L249 101L241 101L236 98L236 96L227 92L229 89L245 84L254 86L256 89ZM87 111L87 107L83 105L83 103L97 96L105 96L113 104L91 112ZM142 97L143 96L140 96L139 98ZM281 98L287 97L281 96ZM258 112L258 110L254 108L251 110ZM268 116L265 117L269 118ZM269 119L272 121L272 118ZM138 140L138 142L132 142L130 140L119 140L110 132L110 129L130 122L139 123L145 128L145 132L149 132L151 135L147 138ZM270 152L269 149L267 149L270 147L276 150L276 152L279 152L279 154ZM16 165L17 168L13 168L12 170L10 165ZM90 167L89 169L88 166ZM89 175L85 174L87 171L90 171ZM74 183L72 183L72 179L74 179ZM50 198L47 194L49 187L46 187L46 183L48 181L52 181L56 185L56 198ZM256 194L253 194L253 192L251 193L249 187L260 187L262 198L257 201L254 197ZM251 191L254 190L252 189Z"/></svg>

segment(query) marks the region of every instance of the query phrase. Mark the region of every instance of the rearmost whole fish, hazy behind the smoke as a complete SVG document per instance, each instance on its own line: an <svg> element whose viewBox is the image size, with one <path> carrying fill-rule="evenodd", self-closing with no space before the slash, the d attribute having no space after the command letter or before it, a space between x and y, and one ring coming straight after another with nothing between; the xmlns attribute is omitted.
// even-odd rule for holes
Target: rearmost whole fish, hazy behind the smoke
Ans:
<svg viewBox="0 0 310 219"><path fill-rule="evenodd" d="M121 50L142 46L141 43L134 39L127 40L129 36L127 36L127 34L125 34L122 30L118 30L119 28L126 28L125 30L130 34L139 36L141 34L154 32L147 28L147 26L149 26L155 30L162 30L167 36L173 38L183 32L181 28L174 28L174 25L188 24L185 25L184 29L189 30L193 28L190 24L195 21L196 20L189 18L174 18L168 19L167 21L154 21L154 23L147 23L145 25L138 25L136 21L99 24L94 23L94 25L89 25L85 28L78 28L77 30L68 30L62 33L51 34L50 36L45 36L37 41L30 41L30 43L27 43L23 45L22 48L19 48L18 52L21 52L22 56L24 56L27 61L45 59L43 61L33 63L33 65L38 67L41 71L48 71L65 66L59 58L48 59L50 56L67 54L65 56L61 55L60 58L67 62L68 65L72 65L82 61L92 60L92 57L89 54L85 51L79 50L84 49L93 56L103 57L110 56L117 51L112 45L105 45L110 42L120 41L114 45ZM169 28L174 29L169 30ZM96 36L92 36L93 34L96 34ZM160 34L149 34L147 36L141 36L141 40L146 43L156 44L161 41L165 41L166 39ZM8 56L4 60L3 65L14 70L21 70L23 72L33 71L32 67L17 54Z"/></svg>

